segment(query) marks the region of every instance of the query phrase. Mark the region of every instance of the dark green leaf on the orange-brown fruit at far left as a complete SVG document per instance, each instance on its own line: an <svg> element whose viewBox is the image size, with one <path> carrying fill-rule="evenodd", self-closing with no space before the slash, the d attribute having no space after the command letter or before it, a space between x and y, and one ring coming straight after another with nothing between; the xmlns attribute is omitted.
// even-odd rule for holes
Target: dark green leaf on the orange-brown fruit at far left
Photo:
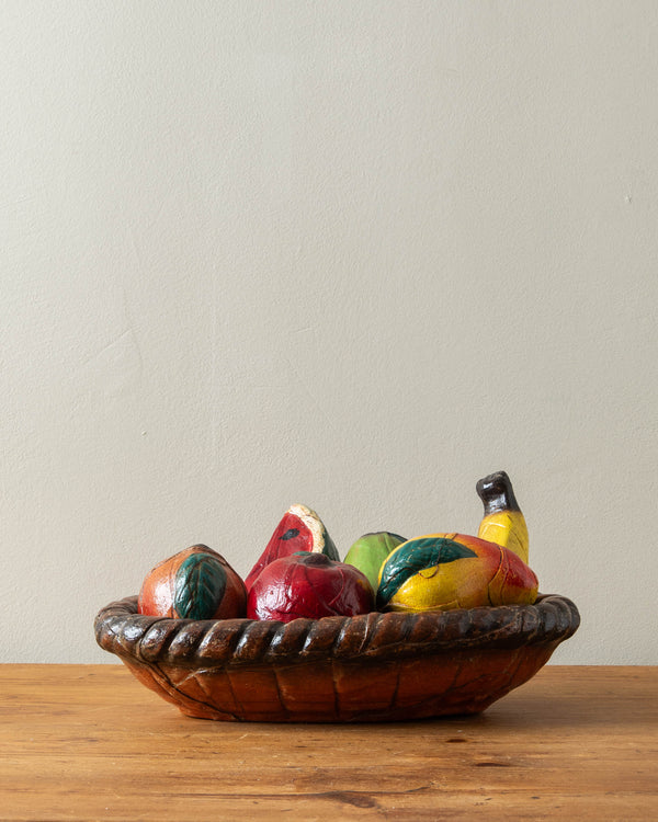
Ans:
<svg viewBox="0 0 658 822"><path fill-rule="evenodd" d="M226 570L208 553L192 553L175 574L173 608L181 619L211 619L226 590Z"/></svg>

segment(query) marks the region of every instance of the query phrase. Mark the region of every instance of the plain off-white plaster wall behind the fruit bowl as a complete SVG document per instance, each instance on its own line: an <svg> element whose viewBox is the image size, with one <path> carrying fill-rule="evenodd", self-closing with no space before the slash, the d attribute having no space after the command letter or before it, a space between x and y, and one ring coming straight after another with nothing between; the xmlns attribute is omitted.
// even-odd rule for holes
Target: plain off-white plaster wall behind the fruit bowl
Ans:
<svg viewBox="0 0 658 822"><path fill-rule="evenodd" d="M1 8L0 660L284 510L473 533L658 663L658 5Z"/></svg>

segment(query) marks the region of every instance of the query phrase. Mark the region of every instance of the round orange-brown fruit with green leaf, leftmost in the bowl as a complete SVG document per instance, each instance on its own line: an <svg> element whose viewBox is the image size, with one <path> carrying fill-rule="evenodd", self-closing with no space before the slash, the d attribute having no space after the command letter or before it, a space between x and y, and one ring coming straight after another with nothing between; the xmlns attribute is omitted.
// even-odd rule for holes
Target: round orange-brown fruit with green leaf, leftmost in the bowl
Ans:
<svg viewBox="0 0 658 822"><path fill-rule="evenodd" d="M180 619L243 617L245 583L220 553L193 545L157 564L144 580L137 610Z"/></svg>

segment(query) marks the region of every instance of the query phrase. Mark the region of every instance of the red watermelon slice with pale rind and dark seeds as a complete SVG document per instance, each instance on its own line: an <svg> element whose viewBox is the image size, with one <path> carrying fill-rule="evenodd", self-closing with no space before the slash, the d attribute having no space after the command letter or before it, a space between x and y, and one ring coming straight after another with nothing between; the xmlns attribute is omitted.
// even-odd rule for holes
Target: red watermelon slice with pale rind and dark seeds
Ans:
<svg viewBox="0 0 658 822"><path fill-rule="evenodd" d="M272 534L265 550L249 571L245 584L251 589L259 573L280 557L290 557L296 551L325 553L329 559L338 560L338 551L327 528L315 511L306 505L291 505Z"/></svg>

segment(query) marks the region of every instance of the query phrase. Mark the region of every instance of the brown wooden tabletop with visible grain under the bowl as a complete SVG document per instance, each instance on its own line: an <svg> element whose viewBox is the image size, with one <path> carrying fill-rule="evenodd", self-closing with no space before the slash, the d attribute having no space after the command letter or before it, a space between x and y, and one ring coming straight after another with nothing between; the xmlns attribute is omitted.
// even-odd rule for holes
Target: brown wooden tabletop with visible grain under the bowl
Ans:
<svg viewBox="0 0 658 822"><path fill-rule="evenodd" d="M190 719L122 665L0 665L1 820L658 820L658 667L552 666L476 717Z"/></svg>

